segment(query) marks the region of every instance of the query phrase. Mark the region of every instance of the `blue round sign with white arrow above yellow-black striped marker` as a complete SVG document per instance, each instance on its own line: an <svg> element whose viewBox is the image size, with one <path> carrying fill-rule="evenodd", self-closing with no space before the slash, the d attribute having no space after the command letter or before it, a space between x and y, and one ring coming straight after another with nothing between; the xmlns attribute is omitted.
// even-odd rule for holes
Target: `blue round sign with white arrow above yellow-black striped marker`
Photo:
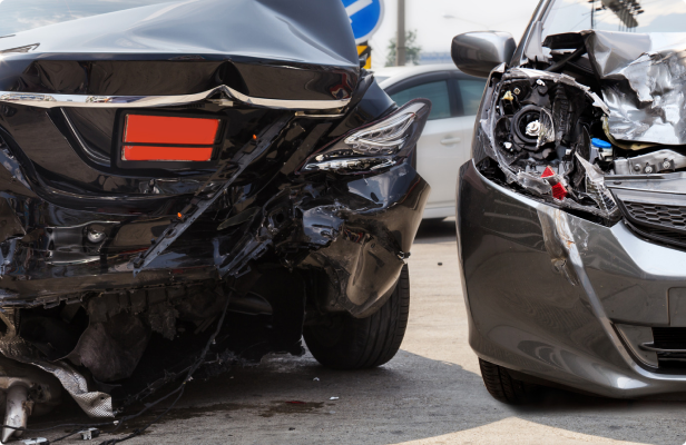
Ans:
<svg viewBox="0 0 686 445"><path fill-rule="evenodd" d="M383 0L343 0L343 6L353 28L357 55L361 61L365 61L362 68L370 69L372 68L372 48L367 42L383 20Z"/></svg>

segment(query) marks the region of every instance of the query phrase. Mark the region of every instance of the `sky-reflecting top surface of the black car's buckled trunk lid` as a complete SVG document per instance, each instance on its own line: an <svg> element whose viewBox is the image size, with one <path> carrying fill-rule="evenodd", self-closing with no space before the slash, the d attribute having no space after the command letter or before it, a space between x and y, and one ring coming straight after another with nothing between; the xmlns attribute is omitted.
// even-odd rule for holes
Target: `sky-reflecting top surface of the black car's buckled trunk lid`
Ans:
<svg viewBox="0 0 686 445"><path fill-rule="evenodd" d="M188 0L18 32L0 51L39 43L31 53L185 52L357 69L353 41L340 0Z"/></svg>

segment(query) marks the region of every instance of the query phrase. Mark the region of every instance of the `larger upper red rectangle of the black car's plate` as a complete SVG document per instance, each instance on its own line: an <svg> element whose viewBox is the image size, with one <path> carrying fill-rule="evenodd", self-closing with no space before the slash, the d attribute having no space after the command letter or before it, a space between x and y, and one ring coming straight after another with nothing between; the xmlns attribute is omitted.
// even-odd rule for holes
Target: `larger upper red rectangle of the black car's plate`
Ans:
<svg viewBox="0 0 686 445"><path fill-rule="evenodd" d="M213 145L218 128L218 119L128 115L124 142Z"/></svg>

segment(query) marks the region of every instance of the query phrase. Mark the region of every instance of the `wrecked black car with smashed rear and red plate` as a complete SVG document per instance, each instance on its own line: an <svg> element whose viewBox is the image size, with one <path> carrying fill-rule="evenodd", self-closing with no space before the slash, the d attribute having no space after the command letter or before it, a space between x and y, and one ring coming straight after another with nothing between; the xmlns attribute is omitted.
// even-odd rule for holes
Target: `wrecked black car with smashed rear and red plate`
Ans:
<svg viewBox="0 0 686 445"><path fill-rule="evenodd" d="M71 3L92 17L0 37L2 442L60 397L126 418L303 337L390 360L431 103L360 68L341 1Z"/></svg>

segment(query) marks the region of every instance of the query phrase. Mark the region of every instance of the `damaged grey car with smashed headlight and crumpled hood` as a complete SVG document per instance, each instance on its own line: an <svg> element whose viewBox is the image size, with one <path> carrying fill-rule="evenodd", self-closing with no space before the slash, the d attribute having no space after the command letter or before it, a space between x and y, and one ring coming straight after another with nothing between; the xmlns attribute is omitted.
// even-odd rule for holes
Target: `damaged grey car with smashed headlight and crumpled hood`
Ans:
<svg viewBox="0 0 686 445"><path fill-rule="evenodd" d="M685 18L684 1L543 0L519 46L453 40L489 77L457 226L499 400L686 390Z"/></svg>

